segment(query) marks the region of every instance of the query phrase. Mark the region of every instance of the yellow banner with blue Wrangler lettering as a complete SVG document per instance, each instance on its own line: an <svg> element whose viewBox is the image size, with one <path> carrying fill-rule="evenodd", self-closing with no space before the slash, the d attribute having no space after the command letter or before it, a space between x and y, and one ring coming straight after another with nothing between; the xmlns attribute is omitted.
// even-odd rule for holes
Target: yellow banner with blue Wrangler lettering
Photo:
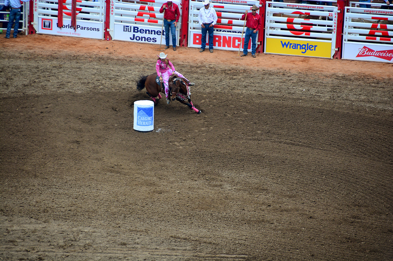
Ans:
<svg viewBox="0 0 393 261"><path fill-rule="evenodd" d="M266 38L266 53L332 58L332 43L294 38Z"/></svg>

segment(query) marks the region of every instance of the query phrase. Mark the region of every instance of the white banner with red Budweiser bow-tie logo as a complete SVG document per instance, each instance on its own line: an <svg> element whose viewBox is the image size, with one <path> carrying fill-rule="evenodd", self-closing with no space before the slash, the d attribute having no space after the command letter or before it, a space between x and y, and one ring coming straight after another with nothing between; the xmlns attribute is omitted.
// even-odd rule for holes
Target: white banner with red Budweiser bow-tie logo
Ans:
<svg viewBox="0 0 393 261"><path fill-rule="evenodd" d="M393 45L345 43L343 59L393 63Z"/></svg>

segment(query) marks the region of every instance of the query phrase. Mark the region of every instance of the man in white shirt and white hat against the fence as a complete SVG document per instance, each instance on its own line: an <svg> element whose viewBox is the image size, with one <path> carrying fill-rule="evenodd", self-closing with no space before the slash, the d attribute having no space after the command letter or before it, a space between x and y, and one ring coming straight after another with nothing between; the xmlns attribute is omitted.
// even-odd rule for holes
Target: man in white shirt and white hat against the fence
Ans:
<svg viewBox="0 0 393 261"><path fill-rule="evenodd" d="M211 2L209 0L205 0L203 2L205 8L199 9L198 22L202 27L202 39L201 39L201 47L200 53L205 51L206 48L206 34L209 32L209 51L213 53L213 33L214 33L214 25L217 23L217 14L216 10L213 7L210 7Z"/></svg>

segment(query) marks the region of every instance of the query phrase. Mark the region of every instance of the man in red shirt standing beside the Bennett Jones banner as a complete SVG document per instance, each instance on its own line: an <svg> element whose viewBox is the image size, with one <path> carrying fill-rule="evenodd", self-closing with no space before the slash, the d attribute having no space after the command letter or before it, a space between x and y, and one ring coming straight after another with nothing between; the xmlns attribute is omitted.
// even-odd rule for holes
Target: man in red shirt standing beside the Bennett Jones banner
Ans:
<svg viewBox="0 0 393 261"><path fill-rule="evenodd" d="M169 28L171 28L172 47L173 51L176 51L176 26L180 18L179 7L172 3L172 0L168 0L168 2L163 4L160 8L160 13L164 13L165 49L169 48Z"/></svg>

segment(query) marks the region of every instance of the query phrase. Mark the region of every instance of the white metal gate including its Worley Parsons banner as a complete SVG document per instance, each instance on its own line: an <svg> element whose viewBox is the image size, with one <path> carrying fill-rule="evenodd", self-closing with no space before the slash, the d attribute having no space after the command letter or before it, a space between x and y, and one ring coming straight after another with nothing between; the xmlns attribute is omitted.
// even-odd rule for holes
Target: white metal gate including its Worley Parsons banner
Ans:
<svg viewBox="0 0 393 261"><path fill-rule="evenodd" d="M58 9L62 3L62 26L59 26ZM105 20L105 0L77 0L75 6L76 25L71 23L71 0L34 0L33 27L39 34L86 37L103 39Z"/></svg>

